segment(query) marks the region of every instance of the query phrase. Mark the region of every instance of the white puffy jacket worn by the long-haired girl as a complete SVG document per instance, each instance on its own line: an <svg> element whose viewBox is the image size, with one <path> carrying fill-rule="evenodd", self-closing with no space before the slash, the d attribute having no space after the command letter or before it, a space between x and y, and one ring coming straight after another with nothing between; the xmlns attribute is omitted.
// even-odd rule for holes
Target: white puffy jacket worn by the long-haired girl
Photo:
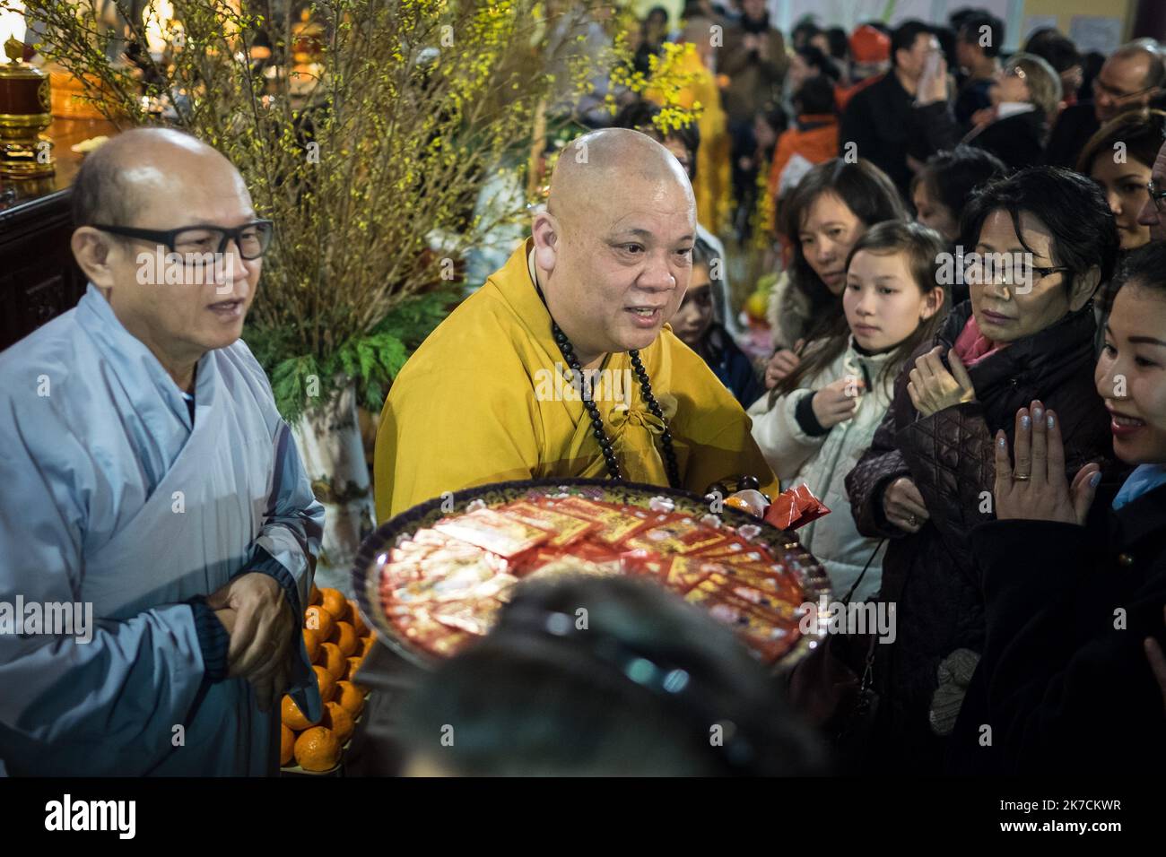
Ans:
<svg viewBox="0 0 1166 857"><path fill-rule="evenodd" d="M892 349L881 354L865 356L855 350L854 338L827 368L816 377L803 379L793 393L780 396L770 407L770 396L761 396L750 409L753 440L784 487L806 483L814 496L830 510L798 531L798 538L816 556L830 575L835 597L845 595L870 559L878 539L858 534L850 514L845 478L874 437L891 405L898 366L884 372ZM863 379L866 393L858 400L854 415L834 426L827 434L812 437L794 416L798 403L806 396L843 377ZM862 584L851 600L865 600L878 592L883 578L883 553L866 569Z"/></svg>

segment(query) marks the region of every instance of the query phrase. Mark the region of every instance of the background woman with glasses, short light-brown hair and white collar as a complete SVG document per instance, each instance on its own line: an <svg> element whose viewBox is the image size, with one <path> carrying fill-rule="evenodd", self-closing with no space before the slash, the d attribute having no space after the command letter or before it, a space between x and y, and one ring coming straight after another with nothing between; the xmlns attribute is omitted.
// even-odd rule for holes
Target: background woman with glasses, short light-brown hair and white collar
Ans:
<svg viewBox="0 0 1166 857"><path fill-rule="evenodd" d="M989 90L992 111L963 142L985 149L1012 168L1042 161L1048 128L1056 121L1061 78L1034 54L1016 54Z"/></svg>

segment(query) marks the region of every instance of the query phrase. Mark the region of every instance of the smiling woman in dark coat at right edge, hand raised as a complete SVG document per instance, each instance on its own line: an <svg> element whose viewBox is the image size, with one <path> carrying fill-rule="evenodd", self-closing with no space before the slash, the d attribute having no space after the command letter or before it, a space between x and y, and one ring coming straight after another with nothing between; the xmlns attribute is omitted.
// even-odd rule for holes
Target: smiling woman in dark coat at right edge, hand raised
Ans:
<svg viewBox="0 0 1166 857"><path fill-rule="evenodd" d="M1095 372L1128 478L1067 471L1067 414L1042 401L1017 412L1011 444L997 433L997 520L972 532L988 637L954 772L1157 773L1166 759L1164 272L1160 244L1129 257Z"/></svg>

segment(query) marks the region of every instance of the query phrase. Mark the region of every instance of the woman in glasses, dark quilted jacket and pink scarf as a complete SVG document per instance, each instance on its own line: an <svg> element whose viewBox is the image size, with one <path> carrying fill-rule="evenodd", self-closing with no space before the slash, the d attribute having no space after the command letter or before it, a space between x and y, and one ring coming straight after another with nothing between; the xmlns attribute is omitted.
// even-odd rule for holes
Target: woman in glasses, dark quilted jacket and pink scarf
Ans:
<svg viewBox="0 0 1166 857"><path fill-rule="evenodd" d="M1069 475L1111 456L1094 388L1090 298L1112 275L1118 237L1096 184L1033 167L984 185L964 209L961 266L971 298L908 358L870 450L847 478L858 532L885 536L880 599L897 638L874 646L879 707L870 766L937 773L983 649L984 609L969 532L992 520L992 438L1011 442L1032 400L1062 420ZM967 267L962 265L967 262ZM941 267L940 276L944 276Z"/></svg>

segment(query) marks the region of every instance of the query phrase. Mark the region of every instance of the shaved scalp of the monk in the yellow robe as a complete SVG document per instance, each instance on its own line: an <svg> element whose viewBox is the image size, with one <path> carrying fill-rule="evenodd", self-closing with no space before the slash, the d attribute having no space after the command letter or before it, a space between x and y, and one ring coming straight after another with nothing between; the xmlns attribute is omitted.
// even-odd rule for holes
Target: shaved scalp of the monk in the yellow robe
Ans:
<svg viewBox="0 0 1166 857"><path fill-rule="evenodd" d="M604 128L576 138L559 157L547 211L567 227L597 225L645 199L674 197L691 206L688 174L663 146L638 131Z"/></svg>

